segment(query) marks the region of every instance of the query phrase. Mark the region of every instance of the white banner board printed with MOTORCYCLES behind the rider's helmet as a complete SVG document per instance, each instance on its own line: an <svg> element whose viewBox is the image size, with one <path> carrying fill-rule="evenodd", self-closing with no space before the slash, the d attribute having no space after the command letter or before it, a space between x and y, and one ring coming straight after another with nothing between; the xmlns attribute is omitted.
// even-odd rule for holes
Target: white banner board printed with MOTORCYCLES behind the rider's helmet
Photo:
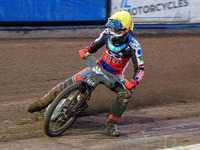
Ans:
<svg viewBox="0 0 200 150"><path fill-rule="evenodd" d="M200 0L111 0L111 15L119 10L137 24L200 23Z"/></svg>

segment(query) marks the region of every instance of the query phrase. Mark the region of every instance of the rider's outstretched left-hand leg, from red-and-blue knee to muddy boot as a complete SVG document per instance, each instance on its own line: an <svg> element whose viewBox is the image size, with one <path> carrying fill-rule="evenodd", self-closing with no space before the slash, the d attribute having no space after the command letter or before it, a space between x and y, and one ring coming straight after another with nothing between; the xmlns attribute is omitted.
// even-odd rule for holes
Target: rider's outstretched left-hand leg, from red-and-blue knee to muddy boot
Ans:
<svg viewBox="0 0 200 150"><path fill-rule="evenodd" d="M53 89L49 91L45 96L40 98L39 100L30 103L27 105L27 111L30 113L41 111L46 106L48 106L55 98L56 96L65 88L72 84L80 84L82 81L84 81L89 76L89 68L86 68L79 73L75 74L73 77L68 78L64 82L58 84Z"/></svg>

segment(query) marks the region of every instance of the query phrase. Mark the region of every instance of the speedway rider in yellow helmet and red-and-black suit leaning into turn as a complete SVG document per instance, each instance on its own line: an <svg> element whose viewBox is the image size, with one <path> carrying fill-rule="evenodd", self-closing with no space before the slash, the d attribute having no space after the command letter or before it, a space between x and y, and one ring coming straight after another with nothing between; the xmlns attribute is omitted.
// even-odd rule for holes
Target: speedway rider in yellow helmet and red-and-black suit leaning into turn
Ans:
<svg viewBox="0 0 200 150"><path fill-rule="evenodd" d="M133 96L133 88L140 83L144 75L144 62L142 60L140 44L133 38L134 23L130 13L127 11L116 12L108 19L105 26L107 29L100 34L99 38L85 49L80 50L79 55L84 58L87 52L95 53L105 45L103 55L99 58L97 64L106 71L124 79L126 90L118 82L111 84L109 81L102 81L102 84L117 93L117 98L111 106L105 123L105 130L111 136L119 136L121 133L116 128L116 123L120 120ZM130 60L134 64L134 74L132 79L128 81L124 78L123 73ZM44 109L63 89L71 84L85 81L89 76L89 69L88 67L58 84L41 99L29 104L27 111L33 113Z"/></svg>

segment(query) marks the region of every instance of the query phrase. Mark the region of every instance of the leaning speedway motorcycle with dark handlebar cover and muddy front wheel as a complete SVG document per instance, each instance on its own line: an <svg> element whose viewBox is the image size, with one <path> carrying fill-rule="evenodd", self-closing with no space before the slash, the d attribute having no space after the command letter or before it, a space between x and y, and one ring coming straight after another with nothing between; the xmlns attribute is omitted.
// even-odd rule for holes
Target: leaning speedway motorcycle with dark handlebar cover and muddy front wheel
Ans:
<svg viewBox="0 0 200 150"><path fill-rule="evenodd" d="M102 80L112 83L117 81L126 89L122 78L101 68L89 53L86 53L84 58L90 67L90 76L81 84L64 89L44 113L44 132L50 137L60 136L72 126L80 113L88 107L87 101L91 93Z"/></svg>

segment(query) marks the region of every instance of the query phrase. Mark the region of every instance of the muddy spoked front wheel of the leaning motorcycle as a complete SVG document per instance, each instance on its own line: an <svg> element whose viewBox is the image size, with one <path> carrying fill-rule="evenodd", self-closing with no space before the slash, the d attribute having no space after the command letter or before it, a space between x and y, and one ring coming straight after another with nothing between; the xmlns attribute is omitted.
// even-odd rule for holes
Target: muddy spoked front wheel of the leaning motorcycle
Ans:
<svg viewBox="0 0 200 150"><path fill-rule="evenodd" d="M86 89L82 84L64 89L45 112L44 132L50 137L64 133L76 121L83 109L82 97ZM86 104L86 103L85 103Z"/></svg>

